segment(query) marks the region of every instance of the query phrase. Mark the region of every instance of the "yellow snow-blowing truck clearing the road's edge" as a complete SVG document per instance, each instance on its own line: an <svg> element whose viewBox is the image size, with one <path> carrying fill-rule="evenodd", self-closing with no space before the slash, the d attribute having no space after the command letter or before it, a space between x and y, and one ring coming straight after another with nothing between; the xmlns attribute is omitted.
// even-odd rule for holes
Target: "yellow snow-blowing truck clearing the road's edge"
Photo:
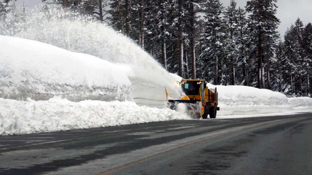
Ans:
<svg viewBox="0 0 312 175"><path fill-rule="evenodd" d="M184 103L187 109L188 115L193 118L207 119L216 118L218 107L218 92L217 88L209 89L206 81L203 79L182 79L180 82L185 95L180 99L174 98L166 90L167 107L176 110L178 104ZM169 99L173 98L173 99Z"/></svg>

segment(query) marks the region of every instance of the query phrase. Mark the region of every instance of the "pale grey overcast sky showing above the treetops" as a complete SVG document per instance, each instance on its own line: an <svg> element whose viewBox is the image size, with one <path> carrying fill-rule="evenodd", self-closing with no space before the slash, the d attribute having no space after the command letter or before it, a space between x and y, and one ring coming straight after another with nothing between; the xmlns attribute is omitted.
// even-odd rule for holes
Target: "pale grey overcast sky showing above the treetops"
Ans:
<svg viewBox="0 0 312 175"><path fill-rule="evenodd" d="M230 0L220 0L225 7L230 5ZM21 6L23 0L17 0L17 6ZM24 0L28 8L41 3L41 0ZM245 7L247 0L236 0L237 7ZM278 0L277 14L281 23L279 31L281 37L284 37L287 27L294 24L299 17L303 24L306 25L312 22L312 0Z"/></svg>

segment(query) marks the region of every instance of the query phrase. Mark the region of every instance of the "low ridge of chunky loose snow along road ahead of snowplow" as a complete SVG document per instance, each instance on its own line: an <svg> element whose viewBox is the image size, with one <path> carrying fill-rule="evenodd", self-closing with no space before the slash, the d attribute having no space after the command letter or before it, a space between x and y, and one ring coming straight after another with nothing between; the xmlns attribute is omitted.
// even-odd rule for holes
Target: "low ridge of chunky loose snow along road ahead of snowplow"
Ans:
<svg viewBox="0 0 312 175"><path fill-rule="evenodd" d="M54 97L48 101L0 98L0 104L0 135L190 119L170 109L137 106L134 102L71 102Z"/></svg>

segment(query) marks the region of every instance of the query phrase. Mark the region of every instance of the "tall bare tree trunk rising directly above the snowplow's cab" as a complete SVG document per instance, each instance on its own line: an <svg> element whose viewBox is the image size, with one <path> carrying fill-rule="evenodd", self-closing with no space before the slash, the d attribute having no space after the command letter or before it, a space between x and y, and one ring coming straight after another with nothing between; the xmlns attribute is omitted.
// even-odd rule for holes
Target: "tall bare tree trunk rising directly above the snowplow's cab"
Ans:
<svg viewBox="0 0 312 175"><path fill-rule="evenodd" d="M194 41L194 4L190 3L191 6L191 53L192 53L192 78L196 78L196 65L195 65L195 41Z"/></svg>

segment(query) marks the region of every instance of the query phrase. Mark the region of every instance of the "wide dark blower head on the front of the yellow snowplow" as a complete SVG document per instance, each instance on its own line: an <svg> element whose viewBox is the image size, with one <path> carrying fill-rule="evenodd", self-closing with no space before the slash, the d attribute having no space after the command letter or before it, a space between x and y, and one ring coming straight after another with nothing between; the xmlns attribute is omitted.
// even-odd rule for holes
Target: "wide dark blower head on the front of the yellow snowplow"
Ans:
<svg viewBox="0 0 312 175"><path fill-rule="evenodd" d="M192 118L198 119L202 117L201 116L202 103L200 100L168 100L167 107L176 111L186 110L188 116L191 116Z"/></svg>

